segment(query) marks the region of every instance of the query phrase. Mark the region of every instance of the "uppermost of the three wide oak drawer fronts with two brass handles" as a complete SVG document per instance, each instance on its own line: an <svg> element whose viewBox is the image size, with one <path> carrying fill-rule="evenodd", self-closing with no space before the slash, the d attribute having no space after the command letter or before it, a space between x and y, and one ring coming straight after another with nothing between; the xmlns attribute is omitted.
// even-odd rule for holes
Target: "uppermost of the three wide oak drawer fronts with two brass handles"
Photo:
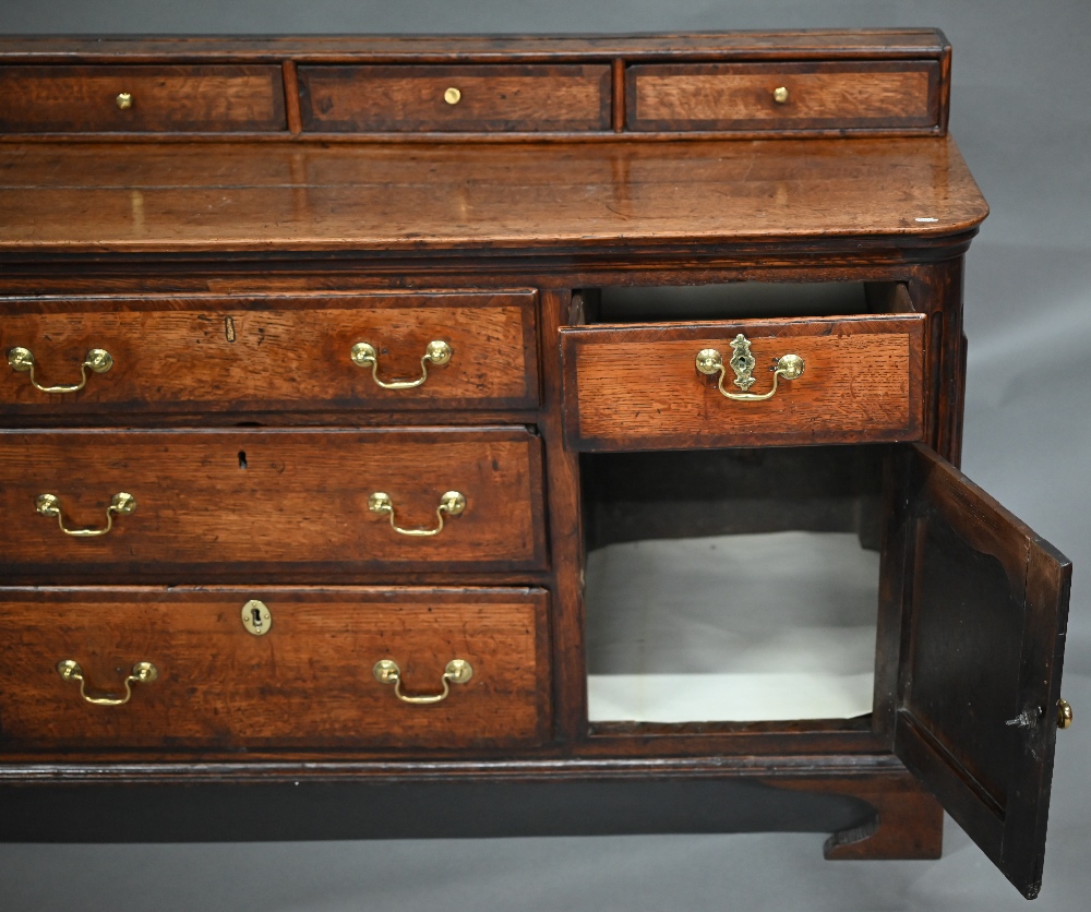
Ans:
<svg viewBox="0 0 1091 912"><path fill-rule="evenodd" d="M0 412L533 407L535 298L9 299L0 302ZM446 351L428 358L433 341ZM359 355L363 344L373 358ZM33 375L13 367L14 349L31 352ZM103 373L82 367L96 349L110 356ZM68 393L34 385L84 379Z"/></svg>

